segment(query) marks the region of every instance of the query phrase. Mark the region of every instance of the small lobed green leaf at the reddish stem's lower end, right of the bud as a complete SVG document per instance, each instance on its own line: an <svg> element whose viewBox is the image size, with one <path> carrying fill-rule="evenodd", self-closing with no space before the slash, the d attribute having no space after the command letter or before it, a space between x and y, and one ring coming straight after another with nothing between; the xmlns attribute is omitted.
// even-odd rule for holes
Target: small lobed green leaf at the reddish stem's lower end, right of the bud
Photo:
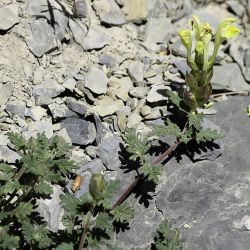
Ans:
<svg viewBox="0 0 250 250"><path fill-rule="evenodd" d="M126 223L134 217L134 209L126 203L117 206L110 213L114 216L114 220L120 223Z"/></svg>

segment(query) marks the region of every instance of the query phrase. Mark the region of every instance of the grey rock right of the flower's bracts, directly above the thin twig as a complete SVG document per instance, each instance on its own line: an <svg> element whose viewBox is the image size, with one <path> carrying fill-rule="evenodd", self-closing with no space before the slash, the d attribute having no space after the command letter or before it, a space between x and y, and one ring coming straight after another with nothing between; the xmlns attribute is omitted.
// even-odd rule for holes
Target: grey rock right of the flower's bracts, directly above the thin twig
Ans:
<svg viewBox="0 0 250 250"><path fill-rule="evenodd" d="M214 66L211 83L214 89L228 89L232 91L250 90L250 86L242 76L237 63Z"/></svg>

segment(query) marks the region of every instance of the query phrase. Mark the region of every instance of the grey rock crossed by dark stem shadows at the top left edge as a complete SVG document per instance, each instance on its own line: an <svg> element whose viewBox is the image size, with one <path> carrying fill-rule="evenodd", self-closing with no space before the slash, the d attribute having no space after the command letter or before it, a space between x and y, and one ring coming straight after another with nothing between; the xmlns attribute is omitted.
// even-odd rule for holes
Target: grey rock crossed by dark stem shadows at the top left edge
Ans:
<svg viewBox="0 0 250 250"><path fill-rule="evenodd" d="M34 17L46 18L53 25L58 40L64 38L67 31L68 17L64 13L66 9L62 4L59 4L56 0L50 0L49 2L47 0L28 0L27 10Z"/></svg>

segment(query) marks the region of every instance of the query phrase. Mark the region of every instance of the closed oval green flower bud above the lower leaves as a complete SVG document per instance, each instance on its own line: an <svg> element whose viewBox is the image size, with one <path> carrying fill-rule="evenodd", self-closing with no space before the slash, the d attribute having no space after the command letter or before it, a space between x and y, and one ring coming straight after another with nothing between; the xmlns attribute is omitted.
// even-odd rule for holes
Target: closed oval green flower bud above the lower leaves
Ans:
<svg viewBox="0 0 250 250"><path fill-rule="evenodd" d="M95 200L100 199L105 185L104 176L102 174L94 174L89 183L89 192Z"/></svg>

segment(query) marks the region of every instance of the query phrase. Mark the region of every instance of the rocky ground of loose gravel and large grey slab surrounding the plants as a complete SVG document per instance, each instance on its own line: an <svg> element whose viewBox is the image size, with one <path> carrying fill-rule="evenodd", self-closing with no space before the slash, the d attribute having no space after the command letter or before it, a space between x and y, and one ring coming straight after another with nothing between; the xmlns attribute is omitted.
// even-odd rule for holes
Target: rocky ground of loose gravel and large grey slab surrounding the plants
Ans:
<svg viewBox="0 0 250 250"><path fill-rule="evenodd" d="M84 175L76 195L100 172L121 181L119 195L135 175L121 168L121 134L136 128L143 135L171 114L164 90L184 84L188 67L177 31L192 14L215 27L224 17L238 18L241 34L220 50L212 84L219 92L250 90L250 1L75 1L74 12L66 0L0 1L0 159L19 157L7 131L27 139L57 134L74 145L71 157ZM185 249L249 249L250 100L219 101L206 110L206 124L225 139L180 148L155 190L131 195L136 216L114 237L122 249L150 249L164 218L180 228ZM161 150L170 143L160 141ZM39 211L56 231L64 190L54 190Z"/></svg>

